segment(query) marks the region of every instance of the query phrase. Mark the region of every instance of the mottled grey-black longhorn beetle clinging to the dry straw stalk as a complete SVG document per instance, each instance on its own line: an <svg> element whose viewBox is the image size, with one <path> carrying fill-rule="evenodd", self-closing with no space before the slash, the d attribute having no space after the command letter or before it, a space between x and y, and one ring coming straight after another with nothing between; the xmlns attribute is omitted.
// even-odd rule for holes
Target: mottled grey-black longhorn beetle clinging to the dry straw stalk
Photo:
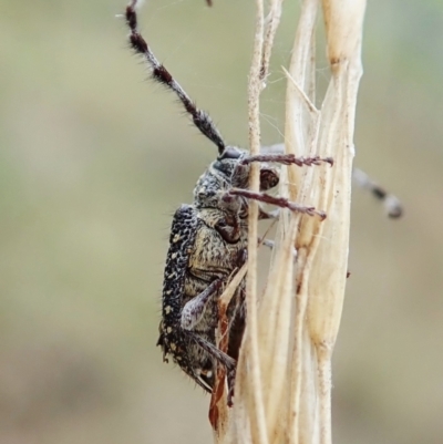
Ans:
<svg viewBox="0 0 443 444"><path fill-rule="evenodd" d="M195 126L218 148L218 157L207 167L194 188L192 205L182 205L171 228L162 296L162 320L157 344L164 360L172 357L198 385L210 392L216 370L227 373L228 402L231 402L236 360L246 321L245 281L235 291L226 311L228 347L219 350L216 329L218 299L229 278L244 265L248 244L248 203L276 205L323 219L324 213L302 207L264 192L278 185L272 164L332 165L331 158L297 158L264 152L249 156L244 149L226 145L207 113L199 110L166 68L158 62L137 28L137 1L126 8L126 23L133 50L147 62L154 81L179 99ZM248 190L250 164L260 164L260 190ZM260 207L259 218L276 217Z"/></svg>

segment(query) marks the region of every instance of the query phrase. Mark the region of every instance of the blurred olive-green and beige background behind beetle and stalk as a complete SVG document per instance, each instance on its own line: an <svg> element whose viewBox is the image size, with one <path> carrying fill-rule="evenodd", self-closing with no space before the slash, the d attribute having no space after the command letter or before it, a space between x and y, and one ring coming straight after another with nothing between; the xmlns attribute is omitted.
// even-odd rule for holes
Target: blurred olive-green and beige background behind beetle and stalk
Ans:
<svg viewBox="0 0 443 444"><path fill-rule="evenodd" d="M115 18L124 0L0 4L0 443L208 443L208 396L155 341L171 215L216 149L144 81ZM285 3L264 144L282 141L298 10ZM254 13L245 0L141 12L158 58L240 146ZM354 192L337 443L442 442L442 2L369 1L356 163L406 211L388 220Z"/></svg>

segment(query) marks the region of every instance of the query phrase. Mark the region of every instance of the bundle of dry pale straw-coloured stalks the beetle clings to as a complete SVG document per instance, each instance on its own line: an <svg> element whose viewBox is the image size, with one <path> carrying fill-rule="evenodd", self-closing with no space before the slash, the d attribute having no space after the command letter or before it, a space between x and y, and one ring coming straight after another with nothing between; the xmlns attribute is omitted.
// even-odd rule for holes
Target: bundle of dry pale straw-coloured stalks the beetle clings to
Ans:
<svg viewBox="0 0 443 444"><path fill-rule="evenodd" d="M249 128L259 148L259 94L281 1L270 4L265 31L257 3L250 71ZM248 319L237 366L235 405L216 424L217 443L331 443L331 355L340 324L348 266L353 126L361 76L364 0L323 0L331 79L315 106L315 29L319 0L303 0L287 71L286 152L331 156L333 167L284 167L279 193L328 217L282 210L264 295L257 298L257 206L250 205ZM253 168L251 189L258 189ZM295 250L297 256L295 256ZM296 257L296 259L295 259Z"/></svg>

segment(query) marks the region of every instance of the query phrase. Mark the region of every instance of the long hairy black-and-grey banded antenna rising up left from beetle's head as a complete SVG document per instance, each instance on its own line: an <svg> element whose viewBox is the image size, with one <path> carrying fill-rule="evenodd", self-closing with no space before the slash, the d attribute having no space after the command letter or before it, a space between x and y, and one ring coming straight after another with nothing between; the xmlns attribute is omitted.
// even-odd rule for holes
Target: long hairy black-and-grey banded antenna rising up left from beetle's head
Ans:
<svg viewBox="0 0 443 444"><path fill-rule="evenodd" d="M210 142L217 145L218 154L222 154L226 145L222 138L220 133L214 125L213 120L205 111L199 110L196 106L196 104L186 94L186 91L178 84L178 82L174 80L169 71L167 71L166 68L158 62L157 58L152 52L145 39L140 33L137 28L136 13L137 3L137 0L131 1L130 4L126 7L125 13L126 23L131 31L131 47L137 54L143 55L151 69L152 78L156 82L167 86L177 95L179 101L183 103L186 112L192 116L194 125L200 131L202 134L209 138Z"/></svg>

